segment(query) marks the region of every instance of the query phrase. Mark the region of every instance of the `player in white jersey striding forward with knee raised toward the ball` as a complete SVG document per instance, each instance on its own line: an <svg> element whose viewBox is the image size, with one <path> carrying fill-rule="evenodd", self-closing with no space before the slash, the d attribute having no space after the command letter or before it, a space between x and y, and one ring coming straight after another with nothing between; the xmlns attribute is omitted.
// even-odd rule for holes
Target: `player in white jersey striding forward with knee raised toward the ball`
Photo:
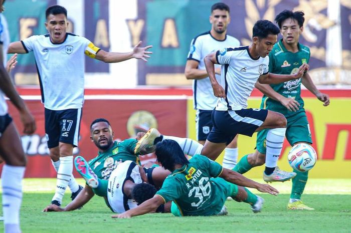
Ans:
<svg viewBox="0 0 351 233"><path fill-rule="evenodd" d="M283 114L266 109L246 109L256 81L260 83L281 83L300 78L308 69L307 64L299 67L295 74L276 75L268 73L268 54L277 42L280 30L272 22L259 20L253 27L250 46L225 48L205 57L214 95L219 97L212 113L214 127L210 132L202 154L216 159L235 135L252 136L254 132L269 129L266 137L266 181L285 181L296 173L285 172L277 167L281 153L286 119ZM215 64L222 65L221 80L215 76Z"/></svg>

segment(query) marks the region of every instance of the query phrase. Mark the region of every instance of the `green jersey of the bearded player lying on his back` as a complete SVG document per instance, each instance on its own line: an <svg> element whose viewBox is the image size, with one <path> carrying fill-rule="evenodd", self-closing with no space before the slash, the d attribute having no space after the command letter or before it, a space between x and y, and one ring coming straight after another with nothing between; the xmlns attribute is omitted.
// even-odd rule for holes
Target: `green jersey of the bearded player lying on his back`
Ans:
<svg viewBox="0 0 351 233"><path fill-rule="evenodd" d="M117 165L126 160L140 164L138 155L134 154L136 139L127 139L121 142L114 142L113 146L104 153L89 161L89 166L100 179L108 179L111 172Z"/></svg>

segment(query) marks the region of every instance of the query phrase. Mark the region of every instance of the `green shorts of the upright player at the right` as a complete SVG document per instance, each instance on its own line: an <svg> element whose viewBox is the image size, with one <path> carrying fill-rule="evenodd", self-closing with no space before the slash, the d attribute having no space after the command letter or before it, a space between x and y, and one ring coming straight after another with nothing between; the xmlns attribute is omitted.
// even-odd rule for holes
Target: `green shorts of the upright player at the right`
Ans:
<svg viewBox="0 0 351 233"><path fill-rule="evenodd" d="M311 130L307 121L305 111L296 113L286 118L287 126L285 136L290 145L297 142L308 142L312 144ZM261 130L257 133L256 148L265 154L266 153L266 137L269 129Z"/></svg>

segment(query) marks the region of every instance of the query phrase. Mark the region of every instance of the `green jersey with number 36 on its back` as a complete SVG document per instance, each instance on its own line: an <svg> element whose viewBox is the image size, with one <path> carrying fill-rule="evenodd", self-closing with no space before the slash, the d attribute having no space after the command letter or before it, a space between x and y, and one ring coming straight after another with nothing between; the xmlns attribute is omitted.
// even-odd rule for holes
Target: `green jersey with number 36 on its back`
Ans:
<svg viewBox="0 0 351 233"><path fill-rule="evenodd" d="M167 176L156 195L164 202L174 200L182 215L218 214L229 191L211 177L219 176L222 170L219 163L197 154L189 164Z"/></svg>

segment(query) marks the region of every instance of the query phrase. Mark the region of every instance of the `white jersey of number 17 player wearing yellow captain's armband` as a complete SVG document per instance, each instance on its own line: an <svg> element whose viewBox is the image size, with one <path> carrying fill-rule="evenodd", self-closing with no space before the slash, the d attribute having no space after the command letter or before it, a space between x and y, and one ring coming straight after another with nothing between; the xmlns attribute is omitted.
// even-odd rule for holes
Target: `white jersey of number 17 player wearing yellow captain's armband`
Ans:
<svg viewBox="0 0 351 233"><path fill-rule="evenodd" d="M84 53L88 56L94 53L94 56L98 48L88 39L71 33L67 33L60 44L53 44L49 34L31 36L22 44L27 52L34 52L45 108L81 108L84 102Z"/></svg>

